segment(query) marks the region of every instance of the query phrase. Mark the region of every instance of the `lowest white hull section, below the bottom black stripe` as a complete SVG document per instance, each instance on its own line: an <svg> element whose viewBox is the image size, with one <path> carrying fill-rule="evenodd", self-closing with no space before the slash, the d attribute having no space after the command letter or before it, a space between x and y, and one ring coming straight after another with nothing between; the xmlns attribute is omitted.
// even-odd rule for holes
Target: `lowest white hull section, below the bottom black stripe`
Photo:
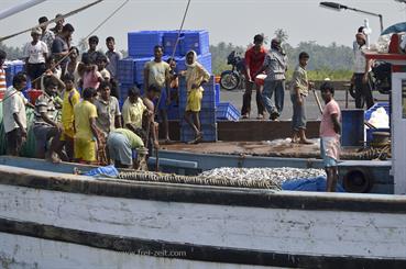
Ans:
<svg viewBox="0 0 406 269"><path fill-rule="evenodd" d="M260 266L204 262L110 251L63 242L0 233L0 268L86 269L261 269ZM278 269L278 267L266 267Z"/></svg>

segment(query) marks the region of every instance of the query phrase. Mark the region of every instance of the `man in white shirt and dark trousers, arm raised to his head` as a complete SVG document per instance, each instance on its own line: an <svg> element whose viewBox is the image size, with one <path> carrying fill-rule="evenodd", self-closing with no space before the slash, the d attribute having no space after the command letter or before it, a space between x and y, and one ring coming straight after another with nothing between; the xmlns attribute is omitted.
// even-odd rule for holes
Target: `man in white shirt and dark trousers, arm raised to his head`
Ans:
<svg viewBox="0 0 406 269"><path fill-rule="evenodd" d="M364 102L366 102L366 109L374 104L372 98L372 86L371 86L371 64L372 60L366 60L363 54L363 49L366 49L366 36L363 33L356 33L356 44L354 51L354 74L351 82L355 86L355 108L363 109Z"/></svg>

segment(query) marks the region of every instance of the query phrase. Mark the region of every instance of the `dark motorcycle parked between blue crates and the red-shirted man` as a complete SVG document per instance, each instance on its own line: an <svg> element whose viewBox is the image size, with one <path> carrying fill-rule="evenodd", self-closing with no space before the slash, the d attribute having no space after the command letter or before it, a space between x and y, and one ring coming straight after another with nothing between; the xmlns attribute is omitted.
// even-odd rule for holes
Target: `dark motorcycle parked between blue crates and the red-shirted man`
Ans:
<svg viewBox="0 0 406 269"><path fill-rule="evenodd" d="M226 90L234 90L245 83L245 60L237 55L235 51L227 57L227 64L232 66L220 75L220 86Z"/></svg>

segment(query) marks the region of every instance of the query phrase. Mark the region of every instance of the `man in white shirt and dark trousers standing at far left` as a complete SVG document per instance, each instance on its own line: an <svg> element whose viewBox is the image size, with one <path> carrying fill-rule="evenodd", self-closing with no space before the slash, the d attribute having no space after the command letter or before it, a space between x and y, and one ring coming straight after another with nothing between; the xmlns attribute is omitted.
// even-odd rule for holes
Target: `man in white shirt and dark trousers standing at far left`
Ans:
<svg viewBox="0 0 406 269"><path fill-rule="evenodd" d="M26 76L19 72L13 77L13 86L6 91L3 101L3 124L7 141L7 154L18 156L26 138L26 99L22 90L26 87Z"/></svg>

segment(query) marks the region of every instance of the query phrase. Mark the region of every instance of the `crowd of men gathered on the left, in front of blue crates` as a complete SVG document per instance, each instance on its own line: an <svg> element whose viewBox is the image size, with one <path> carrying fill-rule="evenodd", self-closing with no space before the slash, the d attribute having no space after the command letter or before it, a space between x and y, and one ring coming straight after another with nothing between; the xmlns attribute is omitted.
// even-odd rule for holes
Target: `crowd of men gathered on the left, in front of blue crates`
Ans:
<svg viewBox="0 0 406 269"><path fill-rule="evenodd" d="M8 89L2 68L7 55L0 51L9 155L18 156L26 139L26 108L31 108L37 158L139 168L146 153L160 147L157 113L163 120L165 142L171 143L166 110L171 89L177 89L179 76L185 76L188 90L185 119L196 134L190 143L201 141L201 86L210 75L197 63L194 51L186 55L186 70L177 74L175 59L164 61L163 47L155 46L154 59L144 66L144 94L134 85L120 110L117 71L122 55L116 51L114 38L106 38L107 52L101 53L99 37L90 36L89 49L80 57L79 49L72 45L74 26L59 14L58 18L51 30L44 25L47 18L39 19L42 26L32 30L32 41L24 47L25 70L13 77ZM42 90L34 103L22 94L29 80L33 88Z"/></svg>

